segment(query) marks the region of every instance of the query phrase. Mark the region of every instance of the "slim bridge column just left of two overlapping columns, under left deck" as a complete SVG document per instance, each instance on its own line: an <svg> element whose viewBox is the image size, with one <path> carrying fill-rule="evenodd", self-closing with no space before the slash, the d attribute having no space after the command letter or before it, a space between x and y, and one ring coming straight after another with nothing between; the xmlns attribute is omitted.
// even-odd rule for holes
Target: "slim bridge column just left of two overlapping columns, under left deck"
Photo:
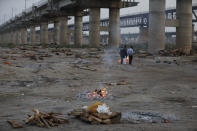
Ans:
<svg viewBox="0 0 197 131"><path fill-rule="evenodd" d="M40 43L48 44L48 22L42 22L40 25Z"/></svg>

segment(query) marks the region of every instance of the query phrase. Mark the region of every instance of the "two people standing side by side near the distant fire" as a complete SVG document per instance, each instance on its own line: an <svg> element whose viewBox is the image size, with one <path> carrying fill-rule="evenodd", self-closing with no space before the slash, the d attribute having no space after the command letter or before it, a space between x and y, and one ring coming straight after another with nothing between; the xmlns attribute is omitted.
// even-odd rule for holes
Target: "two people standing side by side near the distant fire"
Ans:
<svg viewBox="0 0 197 131"><path fill-rule="evenodd" d="M129 56L129 64L132 64L133 46L130 46L130 48L128 48L127 50L126 45L124 45L124 47L120 49L121 64L123 63L124 60L126 60L127 56Z"/></svg>

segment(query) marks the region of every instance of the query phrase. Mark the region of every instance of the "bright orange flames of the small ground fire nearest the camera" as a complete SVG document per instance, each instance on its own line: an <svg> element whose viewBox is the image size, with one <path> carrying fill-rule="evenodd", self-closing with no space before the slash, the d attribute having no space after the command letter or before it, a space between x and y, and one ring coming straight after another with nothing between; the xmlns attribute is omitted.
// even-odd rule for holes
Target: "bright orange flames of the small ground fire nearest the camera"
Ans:
<svg viewBox="0 0 197 131"><path fill-rule="evenodd" d="M105 98L107 96L107 88L95 89L94 92L88 93L88 98Z"/></svg>

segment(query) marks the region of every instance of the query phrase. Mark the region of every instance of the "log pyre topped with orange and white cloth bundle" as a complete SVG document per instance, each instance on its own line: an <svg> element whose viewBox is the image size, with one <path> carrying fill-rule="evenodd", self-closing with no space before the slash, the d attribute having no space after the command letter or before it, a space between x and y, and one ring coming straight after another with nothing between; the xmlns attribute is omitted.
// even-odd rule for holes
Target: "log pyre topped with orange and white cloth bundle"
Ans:
<svg viewBox="0 0 197 131"><path fill-rule="evenodd" d="M88 122L90 124L115 124L120 123L121 113L119 112L111 112L111 113L99 113L98 108L100 107L100 111L102 106L109 107L102 102L97 102L93 105L90 105L86 109L77 109L73 110L68 115L75 116L76 118L81 119L82 121ZM104 107L103 107L104 108ZM103 112L103 111L102 111Z"/></svg>

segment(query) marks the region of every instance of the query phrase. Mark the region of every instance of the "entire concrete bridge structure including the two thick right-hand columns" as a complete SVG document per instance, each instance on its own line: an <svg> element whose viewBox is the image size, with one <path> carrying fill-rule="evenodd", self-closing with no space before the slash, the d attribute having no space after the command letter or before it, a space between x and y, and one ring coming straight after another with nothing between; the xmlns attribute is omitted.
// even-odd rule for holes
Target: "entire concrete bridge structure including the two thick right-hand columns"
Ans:
<svg viewBox="0 0 197 131"><path fill-rule="evenodd" d="M157 53L165 47L165 26L176 27L176 45L185 53L192 48L192 0L176 0L176 18L166 17L165 0L149 0L150 9L146 20L148 25L148 50ZM35 27L40 26L40 43L48 43L48 24L54 23L54 41L69 44L68 16L74 16L74 43L82 44L82 17L90 15L89 43L100 44L100 31L109 31L109 44L118 47L120 43L120 8L137 6L134 0L46 0L18 15L0 27L0 41L3 43L27 43L27 28L31 30L31 43L35 43ZM109 8L109 28L102 29L100 8ZM169 12L170 14L170 12ZM172 14L172 13L171 13ZM196 15L194 14L196 17ZM85 26L84 26L85 28Z"/></svg>

